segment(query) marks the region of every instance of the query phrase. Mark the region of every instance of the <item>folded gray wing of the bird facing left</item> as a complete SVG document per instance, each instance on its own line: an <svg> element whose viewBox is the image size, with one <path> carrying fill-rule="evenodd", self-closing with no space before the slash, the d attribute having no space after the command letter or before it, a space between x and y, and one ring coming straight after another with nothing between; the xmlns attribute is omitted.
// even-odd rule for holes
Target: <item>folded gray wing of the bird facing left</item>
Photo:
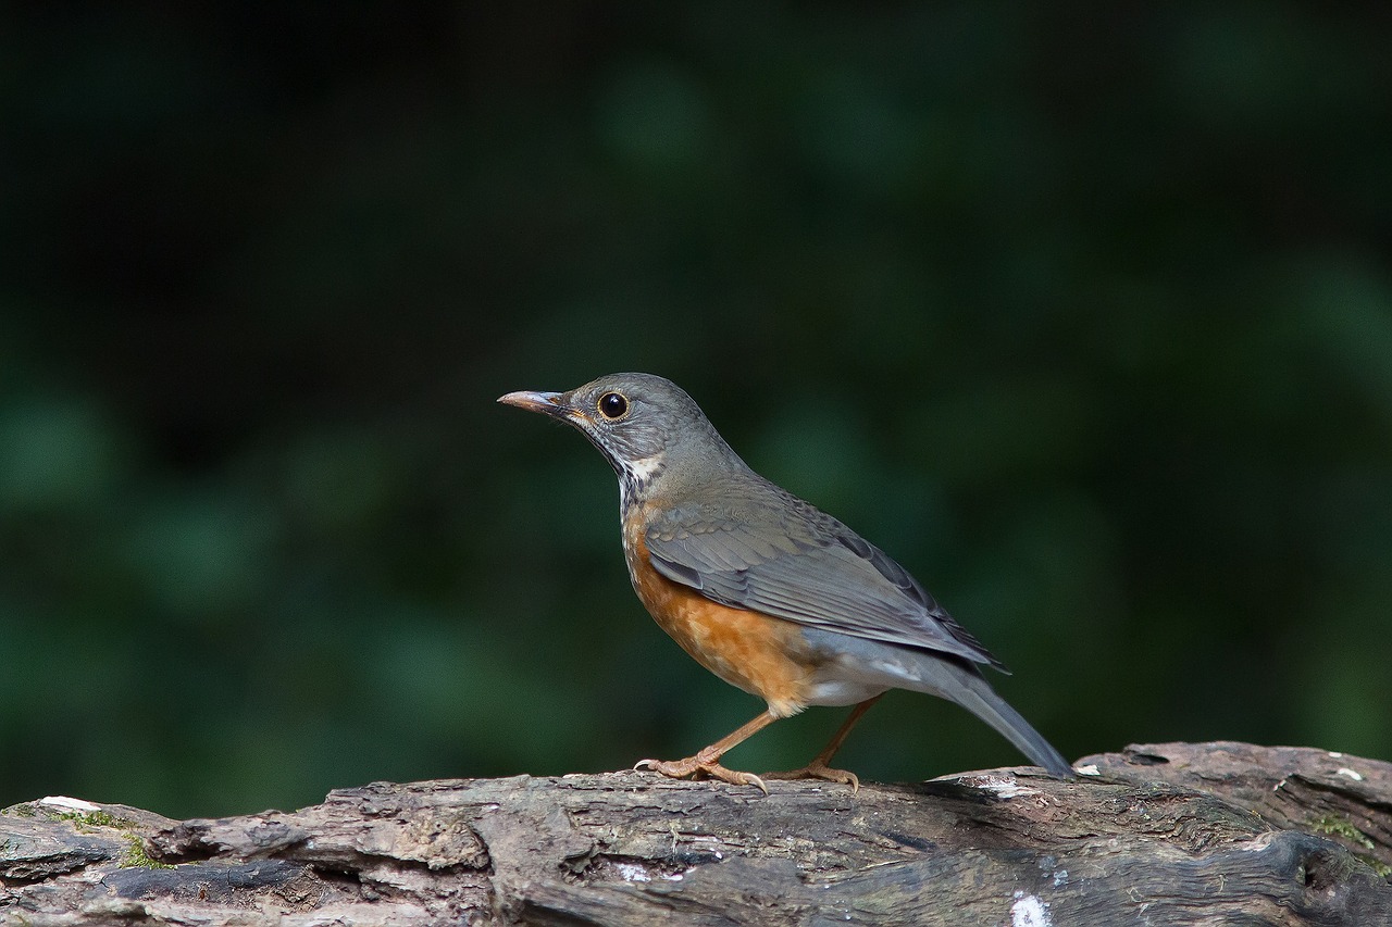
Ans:
<svg viewBox="0 0 1392 927"><path fill-rule="evenodd" d="M724 605L1004 670L884 551L781 490L677 507L649 523L644 541L660 573Z"/></svg>

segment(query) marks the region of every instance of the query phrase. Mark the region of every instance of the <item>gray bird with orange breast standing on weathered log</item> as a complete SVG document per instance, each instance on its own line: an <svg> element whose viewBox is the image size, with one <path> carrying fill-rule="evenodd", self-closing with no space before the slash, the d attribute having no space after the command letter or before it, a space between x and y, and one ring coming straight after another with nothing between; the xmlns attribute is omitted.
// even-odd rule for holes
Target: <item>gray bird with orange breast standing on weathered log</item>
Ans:
<svg viewBox="0 0 1392 927"><path fill-rule="evenodd" d="M860 779L831 760L889 689L940 696L995 728L1055 778L1069 763L995 693L1005 671L924 587L870 541L759 476L671 380L612 373L567 393L518 391L501 404L576 427L614 468L624 558L639 600L696 663L767 708L681 760L635 768L753 785ZM731 770L724 754L809 706L855 706L807 766Z"/></svg>

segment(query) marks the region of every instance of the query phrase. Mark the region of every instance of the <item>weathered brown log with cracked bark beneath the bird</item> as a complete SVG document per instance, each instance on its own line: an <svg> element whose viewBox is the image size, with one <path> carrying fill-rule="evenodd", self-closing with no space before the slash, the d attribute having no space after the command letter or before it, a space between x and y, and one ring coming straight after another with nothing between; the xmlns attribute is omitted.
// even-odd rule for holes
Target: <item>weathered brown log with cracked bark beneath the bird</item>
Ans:
<svg viewBox="0 0 1392 927"><path fill-rule="evenodd" d="M47 798L0 813L0 923L1392 923L1392 764L1224 742L1077 768L377 782L189 821Z"/></svg>

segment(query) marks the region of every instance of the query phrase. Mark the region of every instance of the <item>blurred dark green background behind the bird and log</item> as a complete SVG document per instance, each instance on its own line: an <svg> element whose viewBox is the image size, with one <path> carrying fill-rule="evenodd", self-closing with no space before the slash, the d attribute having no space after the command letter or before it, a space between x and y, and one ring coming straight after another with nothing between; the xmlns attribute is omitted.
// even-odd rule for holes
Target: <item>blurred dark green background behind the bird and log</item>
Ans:
<svg viewBox="0 0 1392 927"><path fill-rule="evenodd" d="M1392 757L1392 7L6 4L0 806L677 757L624 369L1069 757ZM805 763L812 710L731 754ZM870 779L1019 757L892 693Z"/></svg>

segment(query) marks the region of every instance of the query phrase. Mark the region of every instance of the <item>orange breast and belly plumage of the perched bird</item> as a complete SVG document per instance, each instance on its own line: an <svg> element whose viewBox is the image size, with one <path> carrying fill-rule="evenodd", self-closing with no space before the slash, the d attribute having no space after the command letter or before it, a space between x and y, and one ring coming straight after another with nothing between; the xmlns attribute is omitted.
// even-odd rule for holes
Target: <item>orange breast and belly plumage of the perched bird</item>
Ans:
<svg viewBox="0 0 1392 927"><path fill-rule="evenodd" d="M802 711L814 667L807 661L798 625L721 605L667 579L647 558L642 523L639 511L625 518L624 555L638 597L663 631L696 663L764 699L773 714L786 717Z"/></svg>

